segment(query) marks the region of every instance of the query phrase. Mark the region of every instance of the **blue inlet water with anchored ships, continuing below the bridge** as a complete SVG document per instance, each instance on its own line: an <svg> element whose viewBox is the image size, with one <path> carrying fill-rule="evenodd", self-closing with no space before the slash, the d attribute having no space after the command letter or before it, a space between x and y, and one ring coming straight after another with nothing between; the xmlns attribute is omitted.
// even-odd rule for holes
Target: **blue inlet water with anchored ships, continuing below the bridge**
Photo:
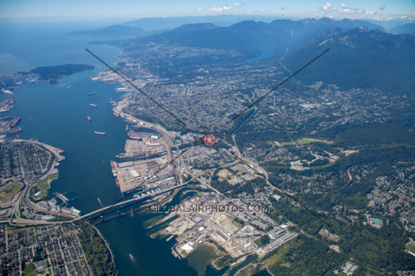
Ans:
<svg viewBox="0 0 415 276"><path fill-rule="evenodd" d="M19 44L16 47L21 49L21 55L19 50L8 52L4 46L0 47L0 52L26 63L25 70L62 63L92 64L95 69L66 76L55 84L26 81L13 90L15 95L0 95L0 101L17 97L15 108L2 115L21 117L20 138L38 139L65 150L66 160L57 167L59 179L52 182L49 194L65 193L71 199L71 206L89 213L100 208L98 198L107 206L121 196L110 161L122 152L127 132L126 123L113 116L108 103L120 98L115 90L117 85L91 81L91 77L104 68L84 48L88 47L109 63L116 62L120 49L90 45L85 39L68 39L62 33L57 37L53 34L50 37L39 34L39 37L44 41L27 45L28 50L24 50L19 39L11 39ZM56 41L59 37L64 37L64 41ZM35 34L31 34L31 38L37 39ZM9 44L8 48L12 46ZM45 56L48 48L50 55ZM6 63L0 63L1 72L9 72L7 67ZM95 94L87 96L90 92ZM98 107L93 108L89 103ZM88 121L87 116L92 120ZM107 132L107 135L95 135L94 130ZM170 248L174 239L167 243L164 239L147 236L142 228L146 219L149 217L122 217L98 227L113 250L120 275L196 275L186 260L172 255Z"/></svg>

